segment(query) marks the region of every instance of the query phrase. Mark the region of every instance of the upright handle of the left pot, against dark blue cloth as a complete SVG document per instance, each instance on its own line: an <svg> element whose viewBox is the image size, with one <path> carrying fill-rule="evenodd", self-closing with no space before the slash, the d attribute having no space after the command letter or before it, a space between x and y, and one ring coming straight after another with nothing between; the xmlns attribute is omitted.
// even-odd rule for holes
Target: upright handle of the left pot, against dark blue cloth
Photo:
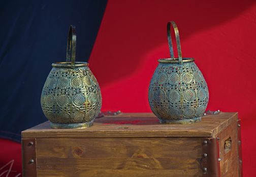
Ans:
<svg viewBox="0 0 256 177"><path fill-rule="evenodd" d="M75 65L76 61L76 26L70 25L67 43L66 62L71 62L71 66Z"/></svg>

